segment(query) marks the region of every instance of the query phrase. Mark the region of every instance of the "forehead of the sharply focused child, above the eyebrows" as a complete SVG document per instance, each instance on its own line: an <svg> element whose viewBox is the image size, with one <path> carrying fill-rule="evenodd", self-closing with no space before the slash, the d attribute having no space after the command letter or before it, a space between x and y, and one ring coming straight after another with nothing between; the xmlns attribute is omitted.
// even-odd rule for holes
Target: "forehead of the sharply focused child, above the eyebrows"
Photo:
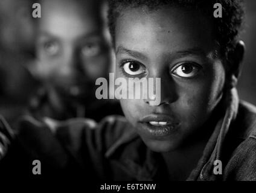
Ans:
<svg viewBox="0 0 256 193"><path fill-rule="evenodd" d="M212 25L195 10L179 7L129 8L117 19L115 43L136 51L171 52L202 48L208 52L214 45Z"/></svg>

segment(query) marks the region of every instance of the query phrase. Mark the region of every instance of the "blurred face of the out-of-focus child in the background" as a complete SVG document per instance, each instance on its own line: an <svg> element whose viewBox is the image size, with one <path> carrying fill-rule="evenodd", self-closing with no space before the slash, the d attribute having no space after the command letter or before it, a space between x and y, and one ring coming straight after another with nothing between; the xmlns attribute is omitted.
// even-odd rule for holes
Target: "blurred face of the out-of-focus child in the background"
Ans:
<svg viewBox="0 0 256 193"><path fill-rule="evenodd" d="M92 100L111 63L109 36L93 1L43 1L37 72L62 96Z"/></svg>

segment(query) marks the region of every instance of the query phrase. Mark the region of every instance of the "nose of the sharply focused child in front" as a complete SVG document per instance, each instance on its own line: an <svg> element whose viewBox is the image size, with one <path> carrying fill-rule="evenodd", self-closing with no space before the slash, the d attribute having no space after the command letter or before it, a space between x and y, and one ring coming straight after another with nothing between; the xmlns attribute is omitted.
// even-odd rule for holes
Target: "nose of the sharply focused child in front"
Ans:
<svg viewBox="0 0 256 193"><path fill-rule="evenodd" d="M164 104L171 104L173 103L178 95L176 93L175 83L171 75L168 73L168 71L165 71L159 75L156 75L154 78L161 78L159 87L161 89L156 89L154 84L153 92L148 91L148 96L146 99L144 99L144 102L147 104L150 104L150 106L161 106ZM148 81L149 82L149 81ZM150 85L149 85L150 87ZM158 103L151 103L152 100L158 100Z"/></svg>

